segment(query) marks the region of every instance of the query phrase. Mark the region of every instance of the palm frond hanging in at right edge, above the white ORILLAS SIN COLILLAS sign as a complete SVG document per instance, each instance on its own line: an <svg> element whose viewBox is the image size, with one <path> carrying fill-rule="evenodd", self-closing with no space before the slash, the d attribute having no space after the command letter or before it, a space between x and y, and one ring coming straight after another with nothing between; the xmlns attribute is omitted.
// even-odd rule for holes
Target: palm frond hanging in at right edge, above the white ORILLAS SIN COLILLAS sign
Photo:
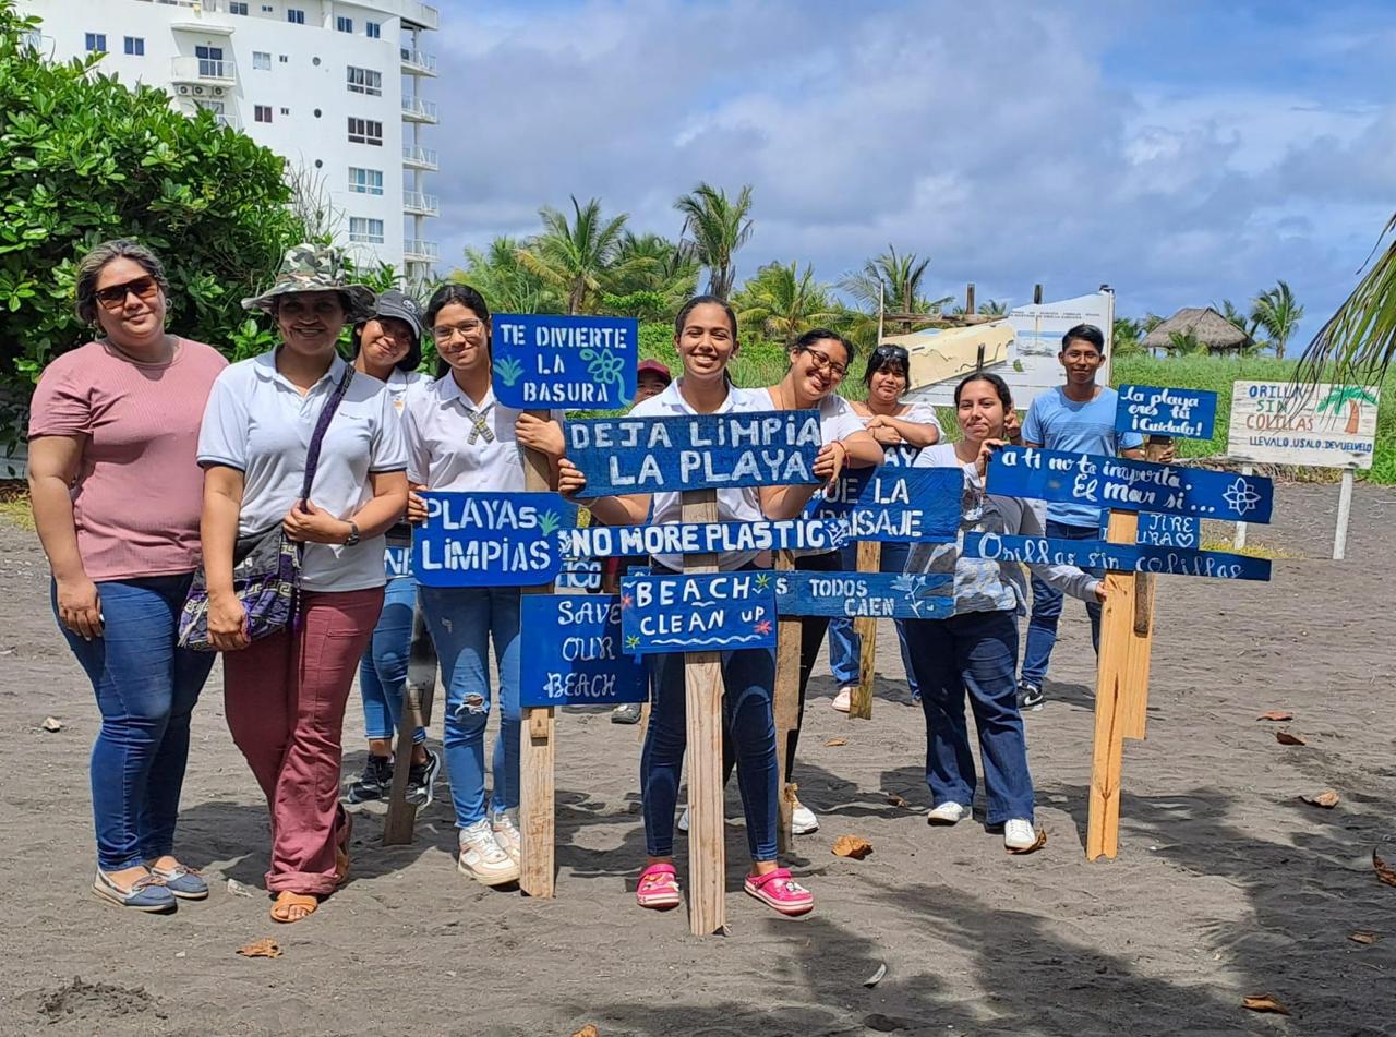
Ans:
<svg viewBox="0 0 1396 1037"><path fill-rule="evenodd" d="M1396 356L1396 215L1378 236L1376 248L1388 234L1392 240L1386 251L1304 350L1297 378L1322 381L1323 367L1330 360L1337 364L1339 381L1361 382L1369 375L1381 381L1386 375L1386 367Z"/></svg>

